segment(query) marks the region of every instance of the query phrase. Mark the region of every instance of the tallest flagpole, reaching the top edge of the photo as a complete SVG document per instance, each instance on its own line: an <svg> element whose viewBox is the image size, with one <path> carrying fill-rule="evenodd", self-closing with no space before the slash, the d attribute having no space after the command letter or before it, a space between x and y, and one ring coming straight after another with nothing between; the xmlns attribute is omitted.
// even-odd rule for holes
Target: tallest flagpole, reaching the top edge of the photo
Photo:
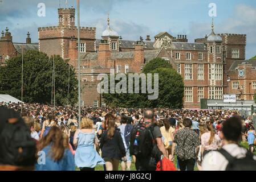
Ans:
<svg viewBox="0 0 256 182"><path fill-rule="evenodd" d="M81 121L81 88L80 88L80 2L76 0L78 7L78 122Z"/></svg>

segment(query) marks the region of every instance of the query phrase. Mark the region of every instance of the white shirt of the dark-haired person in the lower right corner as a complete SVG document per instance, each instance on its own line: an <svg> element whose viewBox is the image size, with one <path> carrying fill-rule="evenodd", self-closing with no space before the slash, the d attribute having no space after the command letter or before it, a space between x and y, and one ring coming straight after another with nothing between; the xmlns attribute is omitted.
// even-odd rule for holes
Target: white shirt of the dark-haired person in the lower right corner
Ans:
<svg viewBox="0 0 256 182"><path fill-rule="evenodd" d="M245 148L233 143L225 144L223 149L238 159L244 158L247 152ZM202 171L225 171L228 163L227 159L220 152L212 151L206 154L204 160L202 160Z"/></svg>

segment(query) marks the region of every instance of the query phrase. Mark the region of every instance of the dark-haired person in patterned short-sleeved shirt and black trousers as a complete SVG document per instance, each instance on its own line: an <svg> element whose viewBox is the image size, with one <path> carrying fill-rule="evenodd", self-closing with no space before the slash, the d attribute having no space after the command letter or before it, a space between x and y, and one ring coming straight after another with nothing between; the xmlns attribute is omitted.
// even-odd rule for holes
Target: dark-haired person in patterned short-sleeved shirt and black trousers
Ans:
<svg viewBox="0 0 256 182"><path fill-rule="evenodd" d="M185 128L178 130L174 135L172 160L174 160L175 152L181 171L193 171L198 158L200 140L198 134L191 129L191 119L185 118L182 123Z"/></svg>

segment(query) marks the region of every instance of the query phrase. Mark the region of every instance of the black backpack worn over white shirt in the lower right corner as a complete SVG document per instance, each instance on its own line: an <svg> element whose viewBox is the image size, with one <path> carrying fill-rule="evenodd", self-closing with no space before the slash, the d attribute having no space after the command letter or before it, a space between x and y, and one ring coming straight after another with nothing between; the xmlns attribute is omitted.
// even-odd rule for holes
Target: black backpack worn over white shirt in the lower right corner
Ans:
<svg viewBox="0 0 256 182"><path fill-rule="evenodd" d="M223 148L219 152L228 160L226 171L256 171L256 156L247 151L245 158L234 158Z"/></svg>

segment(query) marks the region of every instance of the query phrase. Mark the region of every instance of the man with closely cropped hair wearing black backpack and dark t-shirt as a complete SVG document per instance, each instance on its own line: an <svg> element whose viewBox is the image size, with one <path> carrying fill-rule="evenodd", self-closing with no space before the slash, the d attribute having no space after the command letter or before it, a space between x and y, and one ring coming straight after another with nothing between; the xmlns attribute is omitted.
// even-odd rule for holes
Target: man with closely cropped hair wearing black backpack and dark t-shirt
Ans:
<svg viewBox="0 0 256 182"><path fill-rule="evenodd" d="M168 155L153 111L145 110L143 114L143 122L134 127L131 132L130 153L136 156L137 171L155 171L161 155L167 159Z"/></svg>

